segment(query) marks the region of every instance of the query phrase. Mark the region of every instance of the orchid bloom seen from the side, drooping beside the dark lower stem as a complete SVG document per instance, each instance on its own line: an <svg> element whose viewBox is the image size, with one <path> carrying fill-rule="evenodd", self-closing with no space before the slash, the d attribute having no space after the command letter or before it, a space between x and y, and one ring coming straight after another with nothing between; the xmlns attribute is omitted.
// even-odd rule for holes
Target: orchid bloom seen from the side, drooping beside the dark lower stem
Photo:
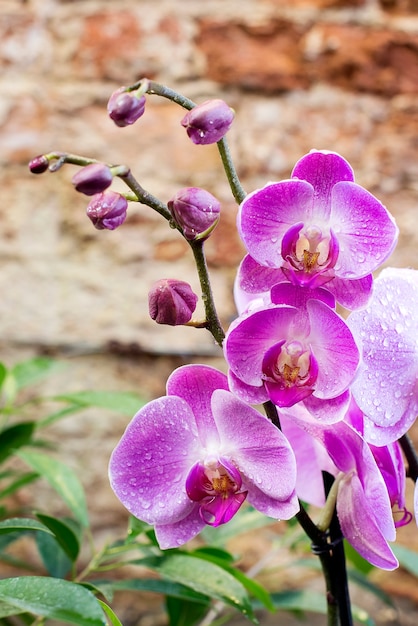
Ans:
<svg viewBox="0 0 418 626"><path fill-rule="evenodd" d="M298 495L313 504L321 502L321 472L334 475L336 510L344 537L376 567L395 569L398 561L388 544L396 538L391 501L367 442L345 421L332 426L319 424L302 405L285 409L280 420L296 454L298 474L309 475L314 487L309 492L305 485ZM302 437L295 436L298 429L303 432ZM309 442L309 437L313 441ZM328 459L318 452L318 443ZM298 478L297 489L300 484Z"/></svg>

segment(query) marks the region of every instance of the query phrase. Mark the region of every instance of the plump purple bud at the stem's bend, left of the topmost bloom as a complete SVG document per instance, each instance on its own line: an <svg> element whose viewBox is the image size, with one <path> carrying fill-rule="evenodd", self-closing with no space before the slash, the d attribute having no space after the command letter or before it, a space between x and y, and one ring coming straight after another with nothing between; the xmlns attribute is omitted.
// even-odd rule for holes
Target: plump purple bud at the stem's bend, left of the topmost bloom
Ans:
<svg viewBox="0 0 418 626"><path fill-rule="evenodd" d="M221 205L211 193L199 187L180 189L167 206L186 239L207 239L217 223Z"/></svg>

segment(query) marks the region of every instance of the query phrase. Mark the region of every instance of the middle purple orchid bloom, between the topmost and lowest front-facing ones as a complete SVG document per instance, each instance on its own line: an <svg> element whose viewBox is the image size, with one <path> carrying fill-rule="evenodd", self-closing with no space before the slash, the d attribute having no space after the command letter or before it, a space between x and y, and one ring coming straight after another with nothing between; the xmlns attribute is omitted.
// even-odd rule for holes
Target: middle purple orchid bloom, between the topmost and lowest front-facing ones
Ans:
<svg viewBox="0 0 418 626"><path fill-rule="evenodd" d="M332 295L281 283L273 304L238 318L224 352L231 389L245 402L279 407L304 402L325 422L342 419L359 351ZM282 304L276 305L275 302Z"/></svg>

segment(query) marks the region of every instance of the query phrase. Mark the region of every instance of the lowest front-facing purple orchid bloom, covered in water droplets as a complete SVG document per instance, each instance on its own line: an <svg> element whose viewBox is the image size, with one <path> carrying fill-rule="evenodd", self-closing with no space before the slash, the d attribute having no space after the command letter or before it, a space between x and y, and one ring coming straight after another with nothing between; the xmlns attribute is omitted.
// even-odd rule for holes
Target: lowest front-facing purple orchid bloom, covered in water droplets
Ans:
<svg viewBox="0 0 418 626"><path fill-rule="evenodd" d="M162 549L228 522L245 500L277 519L299 510L286 438L204 365L175 370L167 396L135 415L109 474L122 504L155 526Z"/></svg>

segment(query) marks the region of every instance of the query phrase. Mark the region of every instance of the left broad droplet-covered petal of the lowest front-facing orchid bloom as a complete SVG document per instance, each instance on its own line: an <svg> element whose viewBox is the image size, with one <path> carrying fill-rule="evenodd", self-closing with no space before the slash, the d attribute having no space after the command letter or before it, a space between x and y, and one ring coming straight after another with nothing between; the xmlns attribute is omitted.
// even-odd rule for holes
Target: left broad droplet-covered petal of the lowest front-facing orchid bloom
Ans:
<svg viewBox="0 0 418 626"><path fill-rule="evenodd" d="M194 506L185 483L200 453L188 404L177 397L159 398L135 415L114 449L110 484L135 517L149 524L180 520Z"/></svg>

